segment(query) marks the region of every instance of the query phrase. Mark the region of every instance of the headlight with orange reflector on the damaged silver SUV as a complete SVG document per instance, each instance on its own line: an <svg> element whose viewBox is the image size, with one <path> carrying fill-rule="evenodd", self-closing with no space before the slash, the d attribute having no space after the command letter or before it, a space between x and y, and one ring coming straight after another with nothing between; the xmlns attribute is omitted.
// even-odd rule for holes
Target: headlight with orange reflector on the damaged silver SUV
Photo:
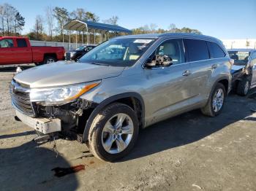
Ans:
<svg viewBox="0 0 256 191"><path fill-rule="evenodd" d="M61 105L79 98L83 93L99 85L100 82L83 83L65 87L52 87L42 89L31 89L30 100L32 102L42 102L44 105Z"/></svg>

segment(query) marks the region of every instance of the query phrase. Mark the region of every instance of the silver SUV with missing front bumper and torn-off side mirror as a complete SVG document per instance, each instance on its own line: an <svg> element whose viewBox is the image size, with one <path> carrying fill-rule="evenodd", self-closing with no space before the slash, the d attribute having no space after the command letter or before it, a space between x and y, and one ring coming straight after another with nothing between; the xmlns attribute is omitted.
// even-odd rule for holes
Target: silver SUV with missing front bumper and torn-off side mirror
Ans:
<svg viewBox="0 0 256 191"><path fill-rule="evenodd" d="M75 136L114 161L135 146L140 128L192 109L219 114L230 68L222 42L210 36L120 36L77 63L22 71L10 92L16 118L42 136Z"/></svg>

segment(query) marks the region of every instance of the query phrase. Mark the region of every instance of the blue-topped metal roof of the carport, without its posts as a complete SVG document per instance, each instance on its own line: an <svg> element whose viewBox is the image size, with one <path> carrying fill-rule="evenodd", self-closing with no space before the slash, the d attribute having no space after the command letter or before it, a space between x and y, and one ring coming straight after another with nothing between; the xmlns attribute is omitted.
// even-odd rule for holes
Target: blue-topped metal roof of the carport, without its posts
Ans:
<svg viewBox="0 0 256 191"><path fill-rule="evenodd" d="M114 26L109 25L105 23L95 23L91 21L85 21L85 20L71 20L69 23L67 23L64 26L64 29L69 31L91 31L94 32L96 30L97 32L100 31L115 31L115 32L122 32L131 34L132 31L130 31L127 28L121 27L121 26Z"/></svg>

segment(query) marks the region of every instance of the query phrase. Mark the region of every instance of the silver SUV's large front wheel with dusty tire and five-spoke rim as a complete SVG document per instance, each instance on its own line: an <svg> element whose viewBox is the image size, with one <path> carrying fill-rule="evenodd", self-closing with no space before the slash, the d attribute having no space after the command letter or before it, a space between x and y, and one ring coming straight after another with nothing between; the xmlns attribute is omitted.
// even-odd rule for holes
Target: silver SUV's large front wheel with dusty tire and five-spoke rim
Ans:
<svg viewBox="0 0 256 191"><path fill-rule="evenodd" d="M117 119L124 121L118 123ZM118 134L118 130L123 134ZM123 130L129 133L124 133ZM138 133L139 122L135 111L125 104L113 103L102 109L94 118L89 130L89 149L100 160L113 162L131 151L138 139Z"/></svg>

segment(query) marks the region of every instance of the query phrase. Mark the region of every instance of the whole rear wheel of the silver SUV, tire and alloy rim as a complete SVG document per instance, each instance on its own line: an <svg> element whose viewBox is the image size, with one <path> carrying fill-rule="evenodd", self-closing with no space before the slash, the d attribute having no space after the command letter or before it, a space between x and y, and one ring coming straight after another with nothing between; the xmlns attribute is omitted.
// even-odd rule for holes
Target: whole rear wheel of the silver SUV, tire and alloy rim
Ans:
<svg viewBox="0 0 256 191"><path fill-rule="evenodd" d="M226 90L224 85L217 83L212 91L206 106L201 109L201 112L207 116L215 117L222 112L226 98Z"/></svg>

